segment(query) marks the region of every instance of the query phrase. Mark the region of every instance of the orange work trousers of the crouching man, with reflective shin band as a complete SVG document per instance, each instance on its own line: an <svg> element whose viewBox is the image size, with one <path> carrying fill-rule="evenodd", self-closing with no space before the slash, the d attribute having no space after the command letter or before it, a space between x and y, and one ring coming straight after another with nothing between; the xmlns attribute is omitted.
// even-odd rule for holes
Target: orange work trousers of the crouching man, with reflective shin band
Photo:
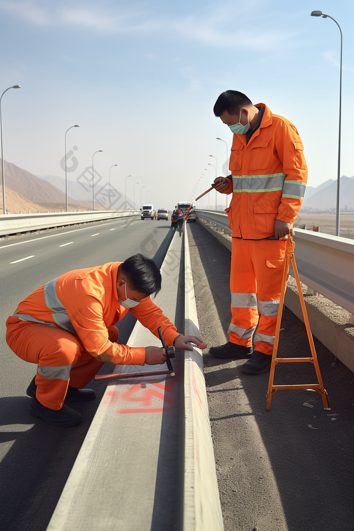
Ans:
<svg viewBox="0 0 354 531"><path fill-rule="evenodd" d="M46 324L6 321L6 342L26 362L37 363L36 397L50 409L61 409L68 385L84 388L103 365L84 347L77 336ZM118 329L108 329L109 340L116 342Z"/></svg>

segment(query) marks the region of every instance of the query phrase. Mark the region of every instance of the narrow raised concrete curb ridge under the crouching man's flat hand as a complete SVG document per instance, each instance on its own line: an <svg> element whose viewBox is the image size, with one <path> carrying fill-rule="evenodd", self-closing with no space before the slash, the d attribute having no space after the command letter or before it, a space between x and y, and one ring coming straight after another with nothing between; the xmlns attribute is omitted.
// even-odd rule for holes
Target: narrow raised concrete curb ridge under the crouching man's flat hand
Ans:
<svg viewBox="0 0 354 531"><path fill-rule="evenodd" d="M199 336L185 226L185 335ZM185 350L185 478L183 531L223 530L201 350Z"/></svg>

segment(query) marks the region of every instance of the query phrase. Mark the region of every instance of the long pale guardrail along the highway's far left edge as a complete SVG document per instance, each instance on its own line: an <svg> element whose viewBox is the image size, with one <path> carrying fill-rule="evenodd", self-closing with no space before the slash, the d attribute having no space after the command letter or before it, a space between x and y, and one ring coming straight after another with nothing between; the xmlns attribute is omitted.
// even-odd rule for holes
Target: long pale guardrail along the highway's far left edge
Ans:
<svg viewBox="0 0 354 531"><path fill-rule="evenodd" d="M0 237L101 219L138 216L139 210L96 210L84 212L44 212L33 214L0 215Z"/></svg>

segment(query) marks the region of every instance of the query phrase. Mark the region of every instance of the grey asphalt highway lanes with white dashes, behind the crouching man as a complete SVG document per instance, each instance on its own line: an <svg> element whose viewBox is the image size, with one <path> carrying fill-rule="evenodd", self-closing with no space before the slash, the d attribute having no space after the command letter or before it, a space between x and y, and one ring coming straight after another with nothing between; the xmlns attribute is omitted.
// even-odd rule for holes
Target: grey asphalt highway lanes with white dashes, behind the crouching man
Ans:
<svg viewBox="0 0 354 531"><path fill-rule="evenodd" d="M170 221L138 219L94 222L0 242L2 529L45 530L80 450L105 386L92 382L98 399L75 404L83 421L58 430L29 415L25 391L36 365L16 357L5 342L5 321L18 302L66 271L123 261L142 252L160 264L171 239ZM134 326L127 316L119 325L126 342ZM104 366L103 372L113 370Z"/></svg>

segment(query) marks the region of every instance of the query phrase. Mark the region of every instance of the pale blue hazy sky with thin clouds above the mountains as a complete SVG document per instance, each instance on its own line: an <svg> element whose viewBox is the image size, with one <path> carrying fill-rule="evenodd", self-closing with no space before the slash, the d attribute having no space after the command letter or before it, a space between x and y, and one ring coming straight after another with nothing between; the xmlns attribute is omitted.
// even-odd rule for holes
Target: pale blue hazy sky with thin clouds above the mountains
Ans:
<svg viewBox="0 0 354 531"><path fill-rule="evenodd" d="M341 175L352 176L349 0L0 0L0 92L21 85L2 100L4 159L64 177L64 135L79 124L66 137L69 179L102 150L101 184L117 164L111 183L135 191L136 207L173 208L225 175L232 133L213 106L234 89L296 125L310 186L335 179L340 31L313 10L343 33Z"/></svg>

